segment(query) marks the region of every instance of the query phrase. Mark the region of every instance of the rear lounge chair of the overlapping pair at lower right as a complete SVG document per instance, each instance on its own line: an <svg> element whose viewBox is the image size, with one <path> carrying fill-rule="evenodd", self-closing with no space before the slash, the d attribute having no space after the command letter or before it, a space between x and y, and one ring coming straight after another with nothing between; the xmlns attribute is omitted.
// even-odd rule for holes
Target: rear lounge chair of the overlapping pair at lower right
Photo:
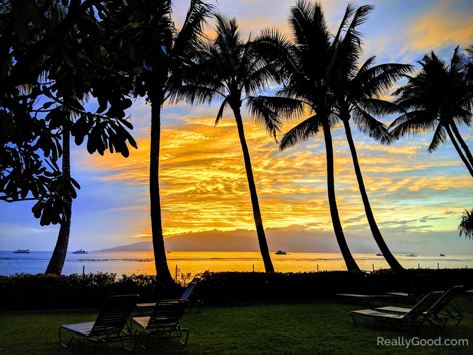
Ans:
<svg viewBox="0 0 473 355"><path fill-rule="evenodd" d="M455 306L450 302L461 293L463 286L454 286L442 295L436 302L432 303L428 311L424 312L430 323L432 324L445 324L444 319L458 319L456 326L463 319L463 314L458 311ZM392 312L399 314L406 314L411 311L410 308L400 307L381 307L377 308L376 311L381 312Z"/></svg>

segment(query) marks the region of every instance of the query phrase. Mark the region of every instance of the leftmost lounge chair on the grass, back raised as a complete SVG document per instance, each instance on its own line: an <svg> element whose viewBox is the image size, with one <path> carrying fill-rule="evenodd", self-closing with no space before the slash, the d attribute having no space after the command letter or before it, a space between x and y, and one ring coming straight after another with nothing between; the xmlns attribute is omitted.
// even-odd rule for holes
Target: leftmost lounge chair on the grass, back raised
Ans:
<svg viewBox="0 0 473 355"><path fill-rule="evenodd" d="M79 336L82 336L95 343L92 354L95 354L97 344L114 341L121 341L124 349L133 351L134 348L129 349L123 345L122 333L126 337L133 336L128 324L128 318L135 307L138 297L137 294L108 297L95 322L66 324L59 327L59 343L62 346L68 347L74 338L79 340ZM123 328L126 328L128 333L123 332ZM61 329L69 330L75 334L70 338L67 345L62 343ZM80 340L79 344L82 349Z"/></svg>

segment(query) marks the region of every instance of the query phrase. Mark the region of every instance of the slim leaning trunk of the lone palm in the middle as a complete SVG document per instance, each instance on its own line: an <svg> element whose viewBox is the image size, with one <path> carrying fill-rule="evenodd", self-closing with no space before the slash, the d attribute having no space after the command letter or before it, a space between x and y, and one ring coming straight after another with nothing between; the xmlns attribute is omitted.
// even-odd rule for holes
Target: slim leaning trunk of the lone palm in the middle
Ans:
<svg viewBox="0 0 473 355"><path fill-rule="evenodd" d="M269 255L268 243L264 234L263 219L261 218L260 204L258 203L258 195L256 194L256 185L254 184L253 169L251 167L250 153L246 145L245 132L243 130L243 121L241 119L240 107L233 108L235 115L236 127L238 128L238 136L240 137L241 149L243 151L243 160L245 161L246 177L248 178L248 187L250 189L251 204L253 206L253 218L256 226L256 234L260 244L261 256L263 257L264 270L266 272L274 272L271 257Z"/></svg>

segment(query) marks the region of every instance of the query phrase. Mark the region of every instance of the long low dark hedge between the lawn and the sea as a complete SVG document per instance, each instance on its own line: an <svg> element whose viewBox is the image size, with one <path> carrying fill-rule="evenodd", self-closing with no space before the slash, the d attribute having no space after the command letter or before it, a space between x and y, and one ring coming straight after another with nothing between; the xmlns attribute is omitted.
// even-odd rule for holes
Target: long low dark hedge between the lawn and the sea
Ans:
<svg viewBox="0 0 473 355"><path fill-rule="evenodd" d="M429 275L429 291L473 286L473 269L381 269L372 272L206 272L195 288L204 303L333 299L335 293L408 291L414 275ZM183 287L165 287L154 275L0 276L0 309L100 307L108 296L139 294L140 302L179 298Z"/></svg>

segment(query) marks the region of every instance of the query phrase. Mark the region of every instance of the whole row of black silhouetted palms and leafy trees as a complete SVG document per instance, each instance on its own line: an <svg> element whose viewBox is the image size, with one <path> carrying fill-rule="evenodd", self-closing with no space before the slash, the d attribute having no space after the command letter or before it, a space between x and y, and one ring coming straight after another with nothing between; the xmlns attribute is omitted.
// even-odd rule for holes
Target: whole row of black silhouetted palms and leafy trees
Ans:
<svg viewBox="0 0 473 355"><path fill-rule="evenodd" d="M137 148L124 110L132 99L150 103L149 192L157 275L172 283L164 249L158 169L161 108L187 102L220 103L215 124L229 109L235 117L265 269L274 271L263 228L241 109L277 141L283 120L298 120L282 134L284 151L323 133L327 190L337 242L348 270L359 270L340 221L334 189L331 131L343 126L368 224L393 269L402 266L387 247L371 210L350 122L381 144L434 132L429 153L447 136L473 177L473 157L458 126L472 122L473 46L455 48L449 63L431 52L411 64L362 62L359 26L372 6L350 3L331 33L319 2L289 8L289 33L265 28L245 39L235 18L190 0L181 29L166 0L3 0L0 4L0 200L34 200L41 225L60 223L46 273L60 274L69 240L71 205L79 184L70 173L70 135L90 154L129 155ZM203 33L215 21L215 34ZM384 99L394 83L393 102ZM279 89L263 96L269 85ZM91 112L85 103L96 106ZM91 106L88 106L91 107ZM390 127L377 117L399 115ZM392 128L390 131L389 128ZM62 157L62 166L57 161ZM466 212L460 235L473 231ZM466 221L466 222L465 222ZM462 227L463 226L463 227Z"/></svg>

